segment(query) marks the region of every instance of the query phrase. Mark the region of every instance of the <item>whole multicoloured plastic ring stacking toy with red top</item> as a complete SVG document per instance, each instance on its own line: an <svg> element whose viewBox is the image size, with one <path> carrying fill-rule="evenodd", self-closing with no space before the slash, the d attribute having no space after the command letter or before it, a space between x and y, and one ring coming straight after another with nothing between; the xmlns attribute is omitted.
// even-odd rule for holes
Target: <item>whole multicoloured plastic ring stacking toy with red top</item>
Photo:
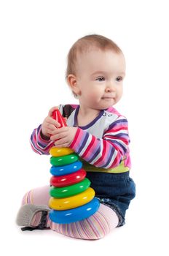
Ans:
<svg viewBox="0 0 169 256"><path fill-rule="evenodd" d="M52 113L65 127L66 122L59 110ZM82 162L71 148L50 149L50 219L52 222L68 224L77 222L93 215L99 208L99 200L95 198L95 191L90 187L90 181L85 178L86 171L82 169Z"/></svg>

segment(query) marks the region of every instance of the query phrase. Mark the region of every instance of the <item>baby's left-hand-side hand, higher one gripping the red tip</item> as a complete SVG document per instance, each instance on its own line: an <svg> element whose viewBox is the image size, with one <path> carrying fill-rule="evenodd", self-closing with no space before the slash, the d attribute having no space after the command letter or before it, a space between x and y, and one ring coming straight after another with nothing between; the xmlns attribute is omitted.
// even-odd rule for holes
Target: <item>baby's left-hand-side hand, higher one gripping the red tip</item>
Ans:
<svg viewBox="0 0 169 256"><path fill-rule="evenodd" d="M55 134L54 133L55 130L60 127L60 124L58 123L58 121L56 121L55 119L52 118L52 112L57 109L58 109L58 107L51 108L48 113L48 116L46 118L44 118L44 121L42 123L42 127L41 127L42 134L49 139L50 139L51 135Z"/></svg>

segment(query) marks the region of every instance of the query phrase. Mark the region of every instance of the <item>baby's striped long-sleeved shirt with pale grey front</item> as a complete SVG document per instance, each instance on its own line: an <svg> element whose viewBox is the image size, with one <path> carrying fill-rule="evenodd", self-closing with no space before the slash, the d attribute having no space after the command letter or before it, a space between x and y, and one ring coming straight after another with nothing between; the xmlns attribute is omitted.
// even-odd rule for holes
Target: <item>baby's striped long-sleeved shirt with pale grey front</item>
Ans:
<svg viewBox="0 0 169 256"><path fill-rule="evenodd" d="M67 117L67 125L77 127L79 105L60 105L60 113ZM88 171L122 173L130 170L127 119L111 107L84 127L78 127L71 145ZM31 147L36 153L49 154L51 140L41 136L41 125L31 135Z"/></svg>

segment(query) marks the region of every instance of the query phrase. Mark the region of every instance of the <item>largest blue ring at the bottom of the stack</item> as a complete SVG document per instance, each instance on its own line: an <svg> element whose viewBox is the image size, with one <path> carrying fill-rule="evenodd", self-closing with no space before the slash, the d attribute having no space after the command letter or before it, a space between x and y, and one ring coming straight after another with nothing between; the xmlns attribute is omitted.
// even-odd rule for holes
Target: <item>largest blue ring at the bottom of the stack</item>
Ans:
<svg viewBox="0 0 169 256"><path fill-rule="evenodd" d="M50 219L52 222L56 222L59 224L68 224L71 222L79 222L82 219L86 219L91 215L95 214L98 211L100 206L100 202L97 198L93 198L89 203L84 206L79 206L74 209L66 210L66 211L50 211Z"/></svg>

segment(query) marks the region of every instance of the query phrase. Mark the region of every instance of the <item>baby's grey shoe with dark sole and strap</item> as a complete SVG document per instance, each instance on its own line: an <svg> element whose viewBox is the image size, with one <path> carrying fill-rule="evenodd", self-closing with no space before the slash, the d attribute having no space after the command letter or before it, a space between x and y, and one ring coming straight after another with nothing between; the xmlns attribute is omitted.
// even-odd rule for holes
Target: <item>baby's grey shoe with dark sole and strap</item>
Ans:
<svg viewBox="0 0 169 256"><path fill-rule="evenodd" d="M47 228L50 208L47 206L35 206L27 204L21 206L17 214L17 225L23 226L21 230L42 230Z"/></svg>

